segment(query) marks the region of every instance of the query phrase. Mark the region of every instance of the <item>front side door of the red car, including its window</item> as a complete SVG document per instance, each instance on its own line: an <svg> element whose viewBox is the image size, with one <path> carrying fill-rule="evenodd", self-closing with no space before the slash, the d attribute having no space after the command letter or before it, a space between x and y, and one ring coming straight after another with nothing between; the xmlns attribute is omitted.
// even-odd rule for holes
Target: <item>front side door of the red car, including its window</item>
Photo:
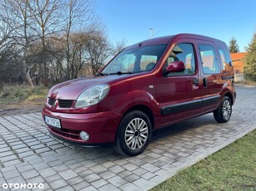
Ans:
<svg viewBox="0 0 256 191"><path fill-rule="evenodd" d="M168 58L163 63L163 71L172 61L183 61L185 71L171 72L168 76L158 77L157 100L161 112L160 125L168 125L174 121L198 115L202 105L193 42L189 39L174 42Z"/></svg>

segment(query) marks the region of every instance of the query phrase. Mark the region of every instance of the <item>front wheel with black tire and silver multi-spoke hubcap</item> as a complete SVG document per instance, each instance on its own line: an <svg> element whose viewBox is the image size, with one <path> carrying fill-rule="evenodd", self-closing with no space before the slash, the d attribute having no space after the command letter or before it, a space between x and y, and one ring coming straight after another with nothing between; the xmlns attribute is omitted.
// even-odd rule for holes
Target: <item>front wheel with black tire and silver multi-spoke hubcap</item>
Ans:
<svg viewBox="0 0 256 191"><path fill-rule="evenodd" d="M141 154L147 148L151 134L152 125L148 115L133 110L124 115L120 122L114 149L122 155Z"/></svg>

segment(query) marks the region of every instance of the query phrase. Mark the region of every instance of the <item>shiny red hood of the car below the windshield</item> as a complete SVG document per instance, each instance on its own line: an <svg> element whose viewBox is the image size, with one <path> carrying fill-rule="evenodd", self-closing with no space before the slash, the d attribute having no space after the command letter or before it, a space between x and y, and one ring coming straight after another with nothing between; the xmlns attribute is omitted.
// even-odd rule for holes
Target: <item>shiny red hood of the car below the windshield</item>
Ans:
<svg viewBox="0 0 256 191"><path fill-rule="evenodd" d="M49 91L48 96L58 100L76 100L78 96L90 86L109 83L111 81L127 77L128 75L90 76L65 81L61 84L53 86L53 88Z"/></svg>

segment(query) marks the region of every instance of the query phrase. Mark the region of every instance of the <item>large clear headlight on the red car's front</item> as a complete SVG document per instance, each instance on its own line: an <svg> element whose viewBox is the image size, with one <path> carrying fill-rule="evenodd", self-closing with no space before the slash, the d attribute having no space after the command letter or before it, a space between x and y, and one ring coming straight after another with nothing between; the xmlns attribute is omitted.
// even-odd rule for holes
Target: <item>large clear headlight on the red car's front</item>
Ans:
<svg viewBox="0 0 256 191"><path fill-rule="evenodd" d="M87 107L89 105L98 104L99 101L103 100L108 95L108 91L108 84L89 87L78 96L75 107Z"/></svg>

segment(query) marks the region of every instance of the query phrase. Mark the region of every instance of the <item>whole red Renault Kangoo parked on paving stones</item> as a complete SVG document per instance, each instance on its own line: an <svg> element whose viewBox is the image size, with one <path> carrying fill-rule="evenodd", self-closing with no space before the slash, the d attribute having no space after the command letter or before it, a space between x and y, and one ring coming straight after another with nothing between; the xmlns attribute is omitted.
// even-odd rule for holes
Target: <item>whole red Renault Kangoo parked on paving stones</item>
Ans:
<svg viewBox="0 0 256 191"><path fill-rule="evenodd" d="M113 143L120 154L137 155L153 130L209 112L227 122L235 97L226 44L178 34L138 42L98 75L53 86L42 113L60 140Z"/></svg>

